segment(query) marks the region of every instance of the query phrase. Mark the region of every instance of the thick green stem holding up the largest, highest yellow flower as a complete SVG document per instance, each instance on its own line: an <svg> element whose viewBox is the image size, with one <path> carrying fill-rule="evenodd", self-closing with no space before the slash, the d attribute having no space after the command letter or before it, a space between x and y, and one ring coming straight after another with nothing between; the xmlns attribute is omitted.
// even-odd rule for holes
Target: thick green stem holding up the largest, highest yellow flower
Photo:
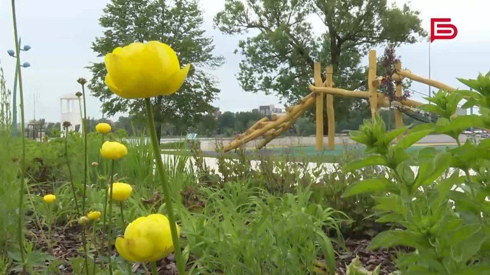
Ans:
<svg viewBox="0 0 490 275"><path fill-rule="evenodd" d="M172 196L170 194L170 184L168 178L166 177L165 170L163 168L162 155L159 148L159 142L156 137L155 122L153 119L153 111L151 109L151 101L149 98L145 98L145 104L147 108L148 132L151 137L153 154L155 155L154 158L155 158L156 166L158 168L158 173L160 174L162 188L163 188L163 195L165 198L165 206L167 207L167 212L169 215L170 231L172 233L172 242L175 250L174 252L175 261L177 262L177 269L179 271L179 274L184 275L186 274L185 263L184 263L184 258L182 257L182 252L180 251L179 235L177 233L177 225L175 224L175 215L173 213L173 208L172 208Z"/></svg>

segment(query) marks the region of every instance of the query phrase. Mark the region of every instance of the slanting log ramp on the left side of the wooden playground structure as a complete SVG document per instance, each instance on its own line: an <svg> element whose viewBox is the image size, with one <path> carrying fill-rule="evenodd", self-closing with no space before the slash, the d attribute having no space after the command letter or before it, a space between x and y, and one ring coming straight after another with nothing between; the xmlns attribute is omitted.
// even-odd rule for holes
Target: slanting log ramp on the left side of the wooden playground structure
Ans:
<svg viewBox="0 0 490 275"><path fill-rule="evenodd" d="M308 107L315 103L315 97L317 94L317 92L311 92L307 96L303 97L298 104L287 107L286 114L284 115L272 115L271 119L269 119L267 116L263 117L259 121L255 122L243 134L236 136L231 143L223 146L223 151L228 152L236 149L258 137L263 137L263 140L257 145L257 149L266 146L270 140L278 137L288 130L288 128L294 124L294 121L303 115Z"/></svg>

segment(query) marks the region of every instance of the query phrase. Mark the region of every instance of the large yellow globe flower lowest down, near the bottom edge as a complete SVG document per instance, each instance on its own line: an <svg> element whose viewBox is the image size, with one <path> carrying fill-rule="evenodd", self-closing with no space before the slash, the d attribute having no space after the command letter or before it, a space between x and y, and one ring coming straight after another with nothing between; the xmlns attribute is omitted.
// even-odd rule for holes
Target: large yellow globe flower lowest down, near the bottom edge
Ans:
<svg viewBox="0 0 490 275"><path fill-rule="evenodd" d="M180 229L177 226L180 235ZM169 219L162 214L139 217L116 239L116 249L131 262L153 262L173 252Z"/></svg>

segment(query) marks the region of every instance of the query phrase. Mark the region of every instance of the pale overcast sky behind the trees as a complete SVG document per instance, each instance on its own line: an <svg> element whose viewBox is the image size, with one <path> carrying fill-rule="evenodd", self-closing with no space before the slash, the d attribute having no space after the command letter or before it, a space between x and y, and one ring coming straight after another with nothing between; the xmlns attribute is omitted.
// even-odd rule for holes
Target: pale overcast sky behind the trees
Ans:
<svg viewBox="0 0 490 275"><path fill-rule="evenodd" d="M38 94L36 118L47 121L60 120L59 97L79 90L78 77L91 78L90 62L100 61L90 46L101 36L98 25L102 8L108 0L17 0L17 23L22 45L32 47L22 52L21 62L29 62L23 69L26 120L32 119L33 94ZM213 29L212 19L223 7L223 0L201 0L204 11L204 28L214 38L216 53L225 57L226 63L212 73L220 80L221 94L213 104L222 111L249 111L258 105L279 104L279 98L264 93L244 92L236 81L241 56L234 54L240 37L231 37ZM395 1L403 4L406 1ZM429 29L430 18L451 18L458 27L453 40L436 40L431 44L431 77L453 87L461 87L455 77L474 77L478 72L490 70L490 24L488 0L412 0L411 6L420 10L423 25ZM310 18L317 34L324 31L318 19ZM5 71L7 86L13 87L15 59L6 50L14 48L10 0L0 0L0 66ZM428 75L427 42L402 46L397 49L402 67L422 76ZM378 54L382 49L378 49ZM364 60L367 64L367 60ZM428 87L414 83L412 88L428 93ZM306 89L306 87L305 87ZM414 99L421 100L414 94ZM89 116L101 117L100 102L87 98Z"/></svg>

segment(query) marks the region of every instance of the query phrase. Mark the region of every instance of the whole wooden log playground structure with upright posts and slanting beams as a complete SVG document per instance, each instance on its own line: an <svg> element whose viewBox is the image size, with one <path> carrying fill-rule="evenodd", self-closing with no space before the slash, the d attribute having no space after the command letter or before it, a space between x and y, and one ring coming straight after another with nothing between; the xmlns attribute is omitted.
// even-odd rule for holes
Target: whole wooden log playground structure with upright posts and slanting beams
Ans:
<svg viewBox="0 0 490 275"><path fill-rule="evenodd" d="M409 78L413 81L424 83L432 87L445 90L447 92L453 92L456 89L445 85L439 81L427 79L416 74L413 74L410 70L401 69L401 63L395 64L395 73L392 75L392 80L395 83L395 96L402 96L401 81L404 78ZM263 117L256 123L254 123L244 133L237 135L233 141L223 146L223 151L228 152L236 149L245 143L254 140L258 137L263 137L263 140L258 143L257 149L266 146L272 139L277 138L284 133L289 127L291 127L296 119L303 115L306 110L315 103L315 118L316 118L316 149L317 151L324 150L323 144L323 106L325 102L327 123L328 123L328 142L327 148L333 150L335 148L335 114L334 114L334 95L348 96L364 98L369 100L371 117L375 114L379 115L380 107L395 108L395 125L397 128L403 126L403 118L401 110L413 110L423 103L412 99L401 99L390 102L385 98L385 94L378 92L383 77L376 75L377 60L376 51L369 51L369 70L368 70L368 92L365 91L349 91L340 88L334 88L333 82L333 69L332 66L327 66L325 69L325 81L321 78L321 65L319 62L314 64L313 78L314 84L310 84L308 87L312 91L307 96L300 99L299 103L286 108L285 115L272 115L271 118L267 116Z"/></svg>

